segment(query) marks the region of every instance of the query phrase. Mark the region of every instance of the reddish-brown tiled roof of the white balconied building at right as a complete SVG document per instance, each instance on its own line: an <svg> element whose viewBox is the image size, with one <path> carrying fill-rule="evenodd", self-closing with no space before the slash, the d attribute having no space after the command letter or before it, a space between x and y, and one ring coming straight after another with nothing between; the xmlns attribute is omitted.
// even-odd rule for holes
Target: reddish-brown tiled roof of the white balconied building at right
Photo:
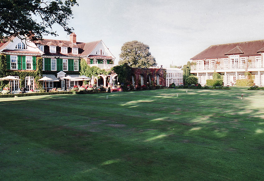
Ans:
<svg viewBox="0 0 264 181"><path fill-rule="evenodd" d="M236 48L236 46L238 46L238 48L241 51L239 51L239 49ZM245 41L245 42L229 43L229 44L221 44L221 45L211 45L210 47L203 50L199 54L195 55L191 59L227 57L227 53L241 54L241 52L243 53L243 56L244 55L255 55L255 54L258 54L258 52L262 52L260 50L263 50L263 48L264 48L264 40Z"/></svg>

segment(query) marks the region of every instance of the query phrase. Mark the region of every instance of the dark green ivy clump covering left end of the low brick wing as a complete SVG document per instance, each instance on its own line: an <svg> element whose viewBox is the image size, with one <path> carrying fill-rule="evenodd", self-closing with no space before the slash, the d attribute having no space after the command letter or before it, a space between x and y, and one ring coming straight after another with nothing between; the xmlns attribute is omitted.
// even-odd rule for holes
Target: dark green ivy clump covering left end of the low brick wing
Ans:
<svg viewBox="0 0 264 181"><path fill-rule="evenodd" d="M118 80L120 83L124 83L125 86L129 84L132 69L130 66L128 66L127 63L124 63L123 65L118 65L118 66L112 67L111 70L116 72L116 74L118 75Z"/></svg>

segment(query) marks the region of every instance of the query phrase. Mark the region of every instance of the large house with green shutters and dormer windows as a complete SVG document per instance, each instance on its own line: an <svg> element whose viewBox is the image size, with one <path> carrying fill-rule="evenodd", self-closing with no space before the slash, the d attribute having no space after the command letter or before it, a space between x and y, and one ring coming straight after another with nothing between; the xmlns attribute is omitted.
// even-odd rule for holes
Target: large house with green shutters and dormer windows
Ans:
<svg viewBox="0 0 264 181"><path fill-rule="evenodd" d="M37 70L36 60L38 57L43 58L43 75L41 76L52 79L43 83L44 88L66 88L80 85L81 83L78 81L66 81L60 78L67 75L79 76L81 58L84 58L90 66L106 70L114 66L115 59L102 40L88 43L77 42L75 33L70 35L70 41L43 39L30 42L12 37L10 40L0 43L0 54L6 54L9 74L17 74L14 76L22 79L20 82L13 81L12 89L25 87L27 91L36 87L34 79L39 75L35 75L34 72ZM19 77L23 71L28 76ZM20 85L21 82L24 85ZM70 85L67 85L68 82ZM106 83L104 82L104 84Z"/></svg>

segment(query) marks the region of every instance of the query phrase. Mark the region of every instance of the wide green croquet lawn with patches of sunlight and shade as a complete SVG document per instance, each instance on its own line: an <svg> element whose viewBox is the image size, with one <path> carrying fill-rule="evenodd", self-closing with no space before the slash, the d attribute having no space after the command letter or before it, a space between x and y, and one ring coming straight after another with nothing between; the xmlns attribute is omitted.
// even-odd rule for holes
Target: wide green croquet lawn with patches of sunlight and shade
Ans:
<svg viewBox="0 0 264 181"><path fill-rule="evenodd" d="M0 98L1 181L264 179L262 90L18 99Z"/></svg>

